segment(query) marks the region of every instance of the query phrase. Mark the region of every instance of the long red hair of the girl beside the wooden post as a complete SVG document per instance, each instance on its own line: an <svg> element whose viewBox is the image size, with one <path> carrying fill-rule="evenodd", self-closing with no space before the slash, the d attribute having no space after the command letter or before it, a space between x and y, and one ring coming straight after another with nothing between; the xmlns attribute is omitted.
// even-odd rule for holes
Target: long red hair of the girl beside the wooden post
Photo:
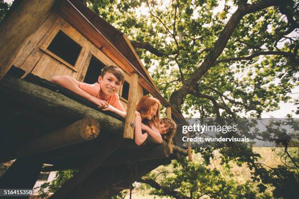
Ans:
<svg viewBox="0 0 299 199"><path fill-rule="evenodd" d="M136 104L136 111L141 115L141 119L146 118L149 115L150 108L158 104L156 115L149 120L149 125L155 125L160 131L160 101L149 96L143 96Z"/></svg>

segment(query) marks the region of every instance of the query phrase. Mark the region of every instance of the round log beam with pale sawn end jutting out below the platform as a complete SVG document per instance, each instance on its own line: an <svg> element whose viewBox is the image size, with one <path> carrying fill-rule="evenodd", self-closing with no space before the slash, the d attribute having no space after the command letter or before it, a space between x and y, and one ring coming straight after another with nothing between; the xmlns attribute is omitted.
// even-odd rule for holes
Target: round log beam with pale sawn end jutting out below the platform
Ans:
<svg viewBox="0 0 299 199"><path fill-rule="evenodd" d="M61 128L41 138L26 143L13 155L1 158L0 162L31 156L36 153L42 153L60 147L95 139L99 136L99 133L99 121L92 118L84 118L68 125L67 127Z"/></svg>

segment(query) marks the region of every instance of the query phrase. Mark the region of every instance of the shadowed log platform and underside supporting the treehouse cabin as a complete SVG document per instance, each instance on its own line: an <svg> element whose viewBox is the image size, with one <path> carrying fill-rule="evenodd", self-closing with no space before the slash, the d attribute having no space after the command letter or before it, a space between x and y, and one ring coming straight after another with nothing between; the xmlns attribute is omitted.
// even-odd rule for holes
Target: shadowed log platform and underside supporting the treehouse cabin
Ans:
<svg viewBox="0 0 299 199"><path fill-rule="evenodd" d="M0 83L0 150L4 152L0 154L0 162L22 160L15 169L9 169L4 178L0 178L0 185L7 184L7 179L17 178L15 174L20 168L26 172L28 166L35 166L32 173L36 174L36 170L41 170L41 163L53 165L43 168L43 171L79 169L78 174L51 197L64 199L70 197L76 187L90 180L96 181L90 179L91 176L105 173L111 167L127 168L130 165L137 168L138 165L138 172L132 174L137 178L158 165L170 163L171 159L177 158L177 153L188 156L186 150L177 146L173 146L174 154L170 154L165 141L157 144L149 139L144 145L137 146L133 140L123 139L125 119L121 116L104 112L71 91L31 74L21 79L22 73L20 69L12 68ZM66 132L64 140L67 144L62 144L66 141L62 142L57 132L64 132L66 127L85 118L95 119L100 133L86 140L80 132ZM43 144L39 146L37 143L41 140ZM128 169L128 172L133 171ZM32 178L22 182L24 187L30 186L37 177L32 175ZM136 180L126 178L118 180ZM10 183L9 186L13 185ZM107 187L103 185L104 189L106 193Z"/></svg>

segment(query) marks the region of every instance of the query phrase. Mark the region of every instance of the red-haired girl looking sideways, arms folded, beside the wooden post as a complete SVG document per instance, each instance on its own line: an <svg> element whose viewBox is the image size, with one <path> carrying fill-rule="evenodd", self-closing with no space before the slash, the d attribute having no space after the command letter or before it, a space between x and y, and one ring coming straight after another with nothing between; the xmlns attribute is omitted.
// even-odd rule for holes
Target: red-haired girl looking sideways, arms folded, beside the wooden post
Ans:
<svg viewBox="0 0 299 199"><path fill-rule="evenodd" d="M135 115L135 143L141 145L148 136L158 143L162 142L160 129L160 101L143 96L136 105ZM142 134L142 130L146 133Z"/></svg>

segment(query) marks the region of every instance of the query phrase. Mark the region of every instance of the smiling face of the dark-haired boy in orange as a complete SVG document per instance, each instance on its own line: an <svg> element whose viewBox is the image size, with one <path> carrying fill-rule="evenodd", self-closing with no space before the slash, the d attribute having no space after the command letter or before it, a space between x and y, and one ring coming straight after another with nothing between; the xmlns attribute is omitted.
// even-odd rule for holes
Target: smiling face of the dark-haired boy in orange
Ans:
<svg viewBox="0 0 299 199"><path fill-rule="evenodd" d="M119 91L122 82L118 80L112 73L106 73L104 77L99 76L101 83L101 92L106 95L113 95Z"/></svg>

